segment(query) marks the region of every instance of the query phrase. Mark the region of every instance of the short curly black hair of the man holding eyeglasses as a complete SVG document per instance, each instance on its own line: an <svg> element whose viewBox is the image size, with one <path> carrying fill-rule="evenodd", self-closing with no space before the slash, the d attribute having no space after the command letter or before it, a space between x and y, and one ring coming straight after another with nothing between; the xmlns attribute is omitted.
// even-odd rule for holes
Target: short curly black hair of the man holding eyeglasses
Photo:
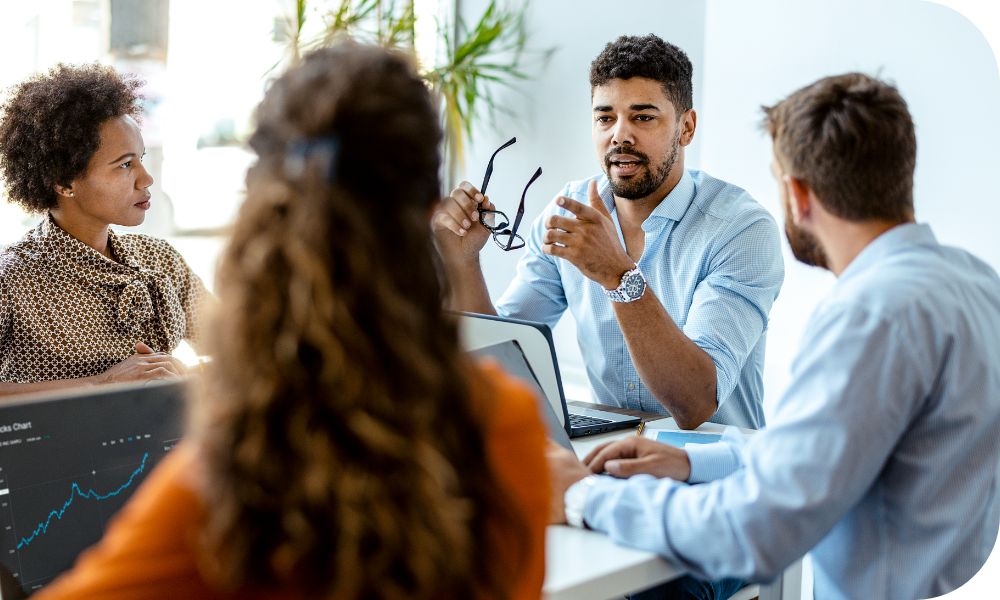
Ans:
<svg viewBox="0 0 1000 600"><path fill-rule="evenodd" d="M677 116L694 106L691 77L694 69L687 54L656 35L623 35L609 42L590 63L590 88L612 79L645 77L659 81Z"/></svg>

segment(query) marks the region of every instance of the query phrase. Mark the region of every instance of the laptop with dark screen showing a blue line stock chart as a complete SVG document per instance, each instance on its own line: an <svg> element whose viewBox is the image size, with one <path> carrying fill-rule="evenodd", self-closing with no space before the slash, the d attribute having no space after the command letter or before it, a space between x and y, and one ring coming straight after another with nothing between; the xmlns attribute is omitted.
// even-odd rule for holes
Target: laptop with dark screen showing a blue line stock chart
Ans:
<svg viewBox="0 0 1000 600"><path fill-rule="evenodd" d="M23 598L69 569L183 426L176 381L0 404L0 597Z"/></svg>

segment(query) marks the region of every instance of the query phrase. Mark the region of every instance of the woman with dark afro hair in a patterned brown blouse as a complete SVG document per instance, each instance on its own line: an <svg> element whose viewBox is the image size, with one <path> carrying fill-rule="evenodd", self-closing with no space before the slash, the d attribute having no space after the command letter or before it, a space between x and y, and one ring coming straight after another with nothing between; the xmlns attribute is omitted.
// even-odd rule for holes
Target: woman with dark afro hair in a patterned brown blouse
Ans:
<svg viewBox="0 0 1000 600"><path fill-rule="evenodd" d="M150 206L140 82L58 65L0 104L0 176L42 222L0 253L0 395L179 375L204 285L169 244L120 234Z"/></svg>

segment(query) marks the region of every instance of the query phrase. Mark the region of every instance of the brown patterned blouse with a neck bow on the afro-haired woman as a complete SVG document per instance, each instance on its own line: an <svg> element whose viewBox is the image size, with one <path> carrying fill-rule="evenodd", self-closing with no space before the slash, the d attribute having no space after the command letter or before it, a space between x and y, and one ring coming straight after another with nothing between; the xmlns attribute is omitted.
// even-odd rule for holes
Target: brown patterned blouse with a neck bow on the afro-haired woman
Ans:
<svg viewBox="0 0 1000 600"><path fill-rule="evenodd" d="M0 253L0 381L89 377L135 342L171 352L197 344L201 279L170 244L108 232L115 262L49 215Z"/></svg>

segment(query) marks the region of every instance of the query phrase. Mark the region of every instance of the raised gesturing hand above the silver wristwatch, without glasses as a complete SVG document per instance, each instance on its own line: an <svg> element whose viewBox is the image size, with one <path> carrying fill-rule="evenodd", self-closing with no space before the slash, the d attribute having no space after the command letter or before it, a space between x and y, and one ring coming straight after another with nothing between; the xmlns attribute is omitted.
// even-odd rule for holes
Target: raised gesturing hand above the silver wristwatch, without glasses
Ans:
<svg viewBox="0 0 1000 600"><path fill-rule="evenodd" d="M552 215L545 221L542 252L564 258L585 277L613 290L622 274L633 267L618 239L608 207L597 193L597 182L587 188L589 204L560 196L556 204L572 216Z"/></svg>

